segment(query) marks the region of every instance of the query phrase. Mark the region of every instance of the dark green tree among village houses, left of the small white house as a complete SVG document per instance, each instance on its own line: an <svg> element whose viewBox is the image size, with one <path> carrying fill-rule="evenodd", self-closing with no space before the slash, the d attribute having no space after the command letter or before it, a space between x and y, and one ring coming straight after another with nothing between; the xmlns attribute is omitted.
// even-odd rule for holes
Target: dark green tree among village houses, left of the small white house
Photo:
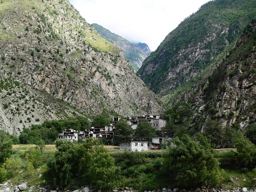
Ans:
<svg viewBox="0 0 256 192"><path fill-rule="evenodd" d="M131 129L131 126L127 124L127 121L121 119L119 122L116 123L115 128L116 130L114 132L113 139L113 143L115 145L119 145L120 143L128 142L131 140L131 135L133 134L133 131Z"/></svg>

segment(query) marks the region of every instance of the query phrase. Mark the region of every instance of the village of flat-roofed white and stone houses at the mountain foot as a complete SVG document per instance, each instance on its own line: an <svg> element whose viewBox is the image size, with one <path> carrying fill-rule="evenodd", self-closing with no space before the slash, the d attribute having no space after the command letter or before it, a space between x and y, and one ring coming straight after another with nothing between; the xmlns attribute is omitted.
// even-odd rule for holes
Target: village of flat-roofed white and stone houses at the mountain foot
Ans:
<svg viewBox="0 0 256 192"><path fill-rule="evenodd" d="M65 131L58 132L58 139L60 140L69 140L69 141L78 141L79 139L83 142L86 142L86 139L89 137L92 138L106 138L108 139L107 145L112 145L115 125L121 120L121 117L114 117L110 126L94 126L89 130L85 131L76 131L73 129L65 129ZM166 120L160 119L158 115L146 115L146 116L137 116L136 119L131 119L131 117L125 117L123 120L126 120L127 124L131 126L132 130L137 129L137 125L140 121L148 121L150 125L155 128L156 131L163 130L166 126ZM154 137L151 142L147 141L129 141L125 143L120 143L120 149L127 151L146 151L151 149L160 149L160 144L163 143L163 137Z"/></svg>

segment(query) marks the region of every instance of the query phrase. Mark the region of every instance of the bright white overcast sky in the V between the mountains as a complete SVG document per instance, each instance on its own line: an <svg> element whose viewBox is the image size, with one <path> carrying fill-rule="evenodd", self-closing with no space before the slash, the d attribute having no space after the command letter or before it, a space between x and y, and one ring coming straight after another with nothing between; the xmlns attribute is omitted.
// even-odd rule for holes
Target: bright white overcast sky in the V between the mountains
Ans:
<svg viewBox="0 0 256 192"><path fill-rule="evenodd" d="M157 49L166 35L209 0L69 0L87 23Z"/></svg>

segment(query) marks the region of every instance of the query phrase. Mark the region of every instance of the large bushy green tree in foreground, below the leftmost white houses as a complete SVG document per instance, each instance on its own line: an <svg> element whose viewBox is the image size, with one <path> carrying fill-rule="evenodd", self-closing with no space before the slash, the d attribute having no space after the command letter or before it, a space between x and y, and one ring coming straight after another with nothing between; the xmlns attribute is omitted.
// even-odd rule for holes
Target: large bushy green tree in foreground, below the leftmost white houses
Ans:
<svg viewBox="0 0 256 192"><path fill-rule="evenodd" d="M72 183L78 174L86 178L87 171L92 166L93 158L104 149L102 145L99 145L99 140L93 138L88 138L86 143L82 144L57 140L56 148L58 151L47 165L54 183L61 186Z"/></svg>

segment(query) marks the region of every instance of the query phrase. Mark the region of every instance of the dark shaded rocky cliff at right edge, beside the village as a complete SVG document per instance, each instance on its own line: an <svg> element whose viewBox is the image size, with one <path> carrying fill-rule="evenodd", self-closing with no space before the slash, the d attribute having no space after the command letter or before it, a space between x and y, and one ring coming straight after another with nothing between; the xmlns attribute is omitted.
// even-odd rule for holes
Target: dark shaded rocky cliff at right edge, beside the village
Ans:
<svg viewBox="0 0 256 192"><path fill-rule="evenodd" d="M203 117L244 129L256 122L255 97L256 20L218 65L186 91L185 98L195 111L194 123L203 125Z"/></svg>

